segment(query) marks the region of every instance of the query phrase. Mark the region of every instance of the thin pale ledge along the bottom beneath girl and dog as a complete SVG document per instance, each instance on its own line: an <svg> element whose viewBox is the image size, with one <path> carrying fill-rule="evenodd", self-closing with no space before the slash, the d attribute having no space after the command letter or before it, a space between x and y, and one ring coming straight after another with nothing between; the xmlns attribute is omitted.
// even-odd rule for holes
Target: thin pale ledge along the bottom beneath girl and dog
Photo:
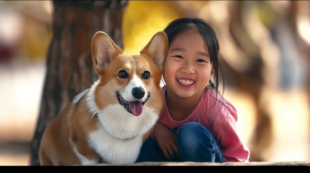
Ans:
<svg viewBox="0 0 310 173"><path fill-rule="evenodd" d="M96 166L310 166L310 161L293 162L141 162L135 164L98 164Z"/></svg>

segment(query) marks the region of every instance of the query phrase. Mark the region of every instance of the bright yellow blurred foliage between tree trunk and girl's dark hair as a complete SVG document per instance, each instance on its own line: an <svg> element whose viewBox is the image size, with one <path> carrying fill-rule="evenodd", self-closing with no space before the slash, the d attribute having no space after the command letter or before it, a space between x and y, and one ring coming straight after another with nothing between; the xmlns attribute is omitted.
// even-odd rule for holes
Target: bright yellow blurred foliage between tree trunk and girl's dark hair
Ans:
<svg viewBox="0 0 310 173"><path fill-rule="evenodd" d="M124 51L138 54L149 39L183 14L170 0L131 0L123 16Z"/></svg>

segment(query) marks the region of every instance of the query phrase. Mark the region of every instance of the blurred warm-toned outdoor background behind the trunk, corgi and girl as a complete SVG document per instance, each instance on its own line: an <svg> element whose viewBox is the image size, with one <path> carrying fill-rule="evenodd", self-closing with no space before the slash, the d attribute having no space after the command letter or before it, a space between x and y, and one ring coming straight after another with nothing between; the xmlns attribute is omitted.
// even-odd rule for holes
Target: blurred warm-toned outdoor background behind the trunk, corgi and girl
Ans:
<svg viewBox="0 0 310 173"><path fill-rule="evenodd" d="M125 53L197 16L220 42L224 96L252 161L310 160L310 1L128 1ZM53 36L49 0L0 0L0 165L29 165Z"/></svg>

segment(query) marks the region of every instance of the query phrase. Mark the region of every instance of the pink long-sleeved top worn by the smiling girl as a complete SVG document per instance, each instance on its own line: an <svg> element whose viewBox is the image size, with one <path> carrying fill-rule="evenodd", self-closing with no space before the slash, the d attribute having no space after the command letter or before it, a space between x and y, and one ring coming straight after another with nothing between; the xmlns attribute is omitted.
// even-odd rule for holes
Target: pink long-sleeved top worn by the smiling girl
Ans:
<svg viewBox="0 0 310 173"><path fill-rule="evenodd" d="M218 94L216 99L216 92L210 86L206 87L193 112L185 120L174 121L165 102L166 86L162 87L162 91L164 106L158 120L160 123L170 129L180 127L187 122L201 123L217 139L225 162L248 162L250 151L236 128L237 111L221 94Z"/></svg>

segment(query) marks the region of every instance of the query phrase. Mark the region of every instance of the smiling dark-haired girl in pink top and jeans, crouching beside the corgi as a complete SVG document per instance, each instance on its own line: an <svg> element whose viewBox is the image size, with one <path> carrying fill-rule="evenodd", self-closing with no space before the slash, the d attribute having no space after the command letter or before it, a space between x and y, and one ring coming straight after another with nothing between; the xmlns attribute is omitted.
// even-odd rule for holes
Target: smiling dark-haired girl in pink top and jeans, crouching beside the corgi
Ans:
<svg viewBox="0 0 310 173"><path fill-rule="evenodd" d="M248 162L237 111L219 94L216 33L200 18L176 19L164 32L164 107L136 162Z"/></svg>

